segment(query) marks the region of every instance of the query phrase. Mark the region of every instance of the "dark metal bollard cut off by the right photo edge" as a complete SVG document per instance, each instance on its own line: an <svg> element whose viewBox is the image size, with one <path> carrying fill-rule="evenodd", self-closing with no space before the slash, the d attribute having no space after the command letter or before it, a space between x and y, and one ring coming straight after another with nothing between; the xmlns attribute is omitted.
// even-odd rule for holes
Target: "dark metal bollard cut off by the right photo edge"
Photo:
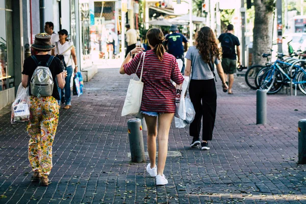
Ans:
<svg viewBox="0 0 306 204"><path fill-rule="evenodd" d="M306 119L298 121L298 163L306 164Z"/></svg>

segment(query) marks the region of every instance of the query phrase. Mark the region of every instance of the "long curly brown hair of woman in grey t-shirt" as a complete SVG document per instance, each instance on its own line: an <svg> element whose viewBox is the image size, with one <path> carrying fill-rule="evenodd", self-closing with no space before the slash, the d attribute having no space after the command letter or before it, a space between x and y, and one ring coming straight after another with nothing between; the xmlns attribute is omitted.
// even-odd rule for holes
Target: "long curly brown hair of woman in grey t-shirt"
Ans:
<svg viewBox="0 0 306 204"><path fill-rule="evenodd" d="M221 48L218 47L216 37L211 28L207 26L202 27L196 33L195 44L204 62L210 63L211 55L220 60L222 51Z"/></svg>

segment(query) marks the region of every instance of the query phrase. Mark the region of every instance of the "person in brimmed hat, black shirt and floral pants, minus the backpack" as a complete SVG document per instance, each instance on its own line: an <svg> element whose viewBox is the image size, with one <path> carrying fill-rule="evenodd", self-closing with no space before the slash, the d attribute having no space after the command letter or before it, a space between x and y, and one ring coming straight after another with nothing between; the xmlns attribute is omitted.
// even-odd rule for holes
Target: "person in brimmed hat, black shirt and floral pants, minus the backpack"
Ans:
<svg viewBox="0 0 306 204"><path fill-rule="evenodd" d="M31 86L29 87L31 118L27 126L27 132L30 136L29 160L32 170L34 171L32 180L40 180L41 186L48 186L50 184L48 175L53 167L52 144L59 119L59 106L57 100L59 100L60 97L57 86L64 88L67 73L63 71L59 59L48 55L48 52L55 47L55 45L51 43L50 35L47 33L35 35L35 42L32 44L32 47L37 52L37 55L28 57L24 60L22 86L29 86L29 82L38 64L48 61L49 63L46 64L49 64L48 67L54 81L53 92L50 96L31 95Z"/></svg>

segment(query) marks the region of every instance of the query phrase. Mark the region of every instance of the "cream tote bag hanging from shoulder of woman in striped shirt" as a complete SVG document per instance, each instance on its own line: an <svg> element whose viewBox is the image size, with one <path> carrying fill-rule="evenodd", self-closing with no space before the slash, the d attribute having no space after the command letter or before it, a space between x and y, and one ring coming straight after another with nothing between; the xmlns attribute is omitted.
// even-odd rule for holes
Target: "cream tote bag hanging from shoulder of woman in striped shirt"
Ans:
<svg viewBox="0 0 306 204"><path fill-rule="evenodd" d="M137 73L137 70L141 63L141 58L143 57L139 81L134 80L135 78L135 75L134 75L133 79L130 80L129 87L127 87L127 92L126 92L121 116L139 115L140 107L141 107L142 91L143 91L143 82L141 82L141 79L142 79L142 72L143 72L143 65L144 65L144 56L145 56L145 52L141 54L138 67L135 72Z"/></svg>

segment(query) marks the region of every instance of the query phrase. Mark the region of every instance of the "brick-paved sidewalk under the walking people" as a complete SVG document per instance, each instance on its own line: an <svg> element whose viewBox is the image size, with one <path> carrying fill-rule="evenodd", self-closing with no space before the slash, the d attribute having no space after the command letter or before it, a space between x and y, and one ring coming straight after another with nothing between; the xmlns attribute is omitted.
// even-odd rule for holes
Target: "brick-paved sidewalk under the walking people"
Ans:
<svg viewBox="0 0 306 204"><path fill-rule="evenodd" d="M306 166L297 165L305 96L268 95L268 124L256 125L256 92L237 79L228 95L218 80L211 149L191 149L189 128L173 121L168 150L182 156L167 158L169 184L156 187L146 164L127 157L131 117L121 109L131 77L98 67L60 111L49 187L31 182L25 125L0 116L0 203L306 203Z"/></svg>

